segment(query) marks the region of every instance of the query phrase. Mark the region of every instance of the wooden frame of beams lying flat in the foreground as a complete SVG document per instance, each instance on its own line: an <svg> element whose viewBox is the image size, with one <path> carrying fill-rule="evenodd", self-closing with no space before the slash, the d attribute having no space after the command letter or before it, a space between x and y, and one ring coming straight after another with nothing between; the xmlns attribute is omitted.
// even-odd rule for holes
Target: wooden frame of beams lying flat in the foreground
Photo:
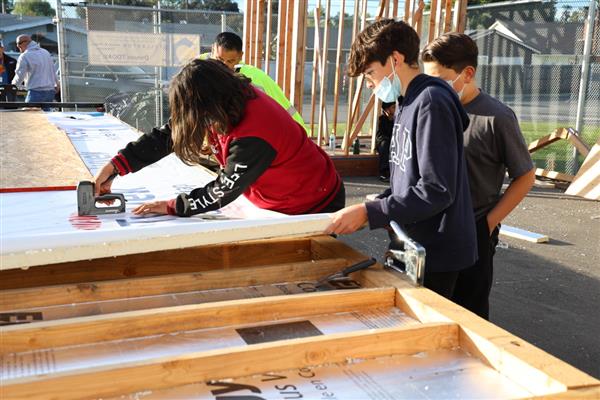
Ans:
<svg viewBox="0 0 600 400"><path fill-rule="evenodd" d="M271 254L279 254L279 259L270 265L261 266L260 264L269 259L268 254L263 254L267 249L270 249ZM204 250L205 255L217 251L215 247ZM185 249L181 251L186 252ZM191 252L197 259L198 252L202 251L193 249ZM297 262L290 261L278 265L281 259L289 260L288 257L293 254L297 254ZM188 254L187 257L191 255ZM244 260L254 259L255 264L249 265L249 261L244 266L235 265L236 255L245 255ZM221 279L225 280L222 286L247 285L249 282L269 283L277 281L277 278L278 281L289 281L296 277L316 279L317 276L328 274L340 266L364 258L361 253L330 237L240 243L213 257L215 261L207 272L203 272L206 281L202 282L200 287L211 287ZM217 259L222 260L224 264L219 264ZM317 265L312 269L308 268L310 271L306 272L309 262L313 260ZM70 267L73 270L89 268L89 262L76 264L73 263ZM172 264L178 265L179 263ZM42 270L45 267L35 268ZM187 267L184 265L182 268ZM173 271L175 274L162 271L163 275L151 278L116 279L94 285L99 284L99 298L104 298L106 293L118 293L128 286L137 286L138 291L134 294L154 293L159 286L160 292L197 288L191 283L184 283L189 275L178 274L180 270L176 268L176 271ZM79 278L81 280L85 276L79 275ZM167 278L173 279L169 282ZM541 396L540 398L594 398L600 394L598 380L428 289L412 287L403 277L383 270L381 266L355 273L353 279L359 281L364 288L163 307L2 327L0 331L3 345L0 352L8 354L52 349L175 331L266 323L386 307L400 309L417 320L417 323L394 328L358 330L228 347L145 361L129 361L124 364L78 367L67 372L6 379L2 382L1 390L4 396L11 399L106 397L139 390L156 390L194 382L344 362L348 358L369 359L460 347L506 378L527 388L536 396ZM154 284L159 281L160 284L154 285L152 280L156 280ZM38 279L37 282L42 281ZM55 294L62 290L66 296L66 293L73 289L73 285L70 288L67 286L69 285L37 290L38 293L54 291ZM148 291L146 286L149 286ZM11 294L32 290L34 289L10 289L2 295L6 300ZM123 294L125 293L120 295ZM68 296L62 301L67 299ZM33 301L31 293L28 301ZM53 301L52 297L49 301ZM41 301L38 299L35 304L40 305ZM127 379L122 379L123 376Z"/></svg>

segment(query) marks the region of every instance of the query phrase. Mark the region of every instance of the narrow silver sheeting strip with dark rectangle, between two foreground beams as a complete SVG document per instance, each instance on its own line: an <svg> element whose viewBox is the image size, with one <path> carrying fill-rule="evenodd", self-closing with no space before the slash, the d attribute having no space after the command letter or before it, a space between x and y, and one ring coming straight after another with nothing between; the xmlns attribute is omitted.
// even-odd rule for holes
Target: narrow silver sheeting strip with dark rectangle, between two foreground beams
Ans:
<svg viewBox="0 0 600 400"><path fill-rule="evenodd" d="M259 334L268 331L267 341L275 341L418 323L397 308L386 308L4 354L0 355L0 380L246 346L252 344L251 327ZM285 325L293 329L284 329Z"/></svg>

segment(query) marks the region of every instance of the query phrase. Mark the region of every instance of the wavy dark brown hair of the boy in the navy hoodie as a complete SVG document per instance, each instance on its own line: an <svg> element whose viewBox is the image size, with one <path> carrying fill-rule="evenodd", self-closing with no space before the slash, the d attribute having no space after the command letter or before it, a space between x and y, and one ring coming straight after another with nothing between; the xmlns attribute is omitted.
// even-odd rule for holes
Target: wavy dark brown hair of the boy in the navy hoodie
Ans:
<svg viewBox="0 0 600 400"><path fill-rule="evenodd" d="M419 35L403 21L382 19L358 34L352 43L348 60L348 75L358 76L374 61L385 64L393 51L404 56L404 62L415 66L419 62Z"/></svg>

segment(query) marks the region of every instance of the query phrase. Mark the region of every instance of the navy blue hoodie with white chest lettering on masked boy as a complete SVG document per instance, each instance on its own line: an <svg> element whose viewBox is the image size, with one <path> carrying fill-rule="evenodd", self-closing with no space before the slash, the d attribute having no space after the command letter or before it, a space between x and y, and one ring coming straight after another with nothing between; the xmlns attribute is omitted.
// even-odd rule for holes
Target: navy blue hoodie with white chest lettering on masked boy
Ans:
<svg viewBox="0 0 600 400"><path fill-rule="evenodd" d="M425 247L425 273L458 271L477 260L475 218L458 96L424 74L398 99L390 146L390 189L367 202L371 229L396 221Z"/></svg>

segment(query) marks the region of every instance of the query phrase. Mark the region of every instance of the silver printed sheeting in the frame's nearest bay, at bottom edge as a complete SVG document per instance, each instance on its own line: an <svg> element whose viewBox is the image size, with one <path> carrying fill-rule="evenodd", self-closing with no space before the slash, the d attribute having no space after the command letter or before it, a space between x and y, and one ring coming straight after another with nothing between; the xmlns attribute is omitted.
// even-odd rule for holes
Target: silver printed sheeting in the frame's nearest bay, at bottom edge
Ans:
<svg viewBox="0 0 600 400"><path fill-rule="evenodd" d="M443 350L146 390L114 399L415 400L511 399L532 395L461 350Z"/></svg>

